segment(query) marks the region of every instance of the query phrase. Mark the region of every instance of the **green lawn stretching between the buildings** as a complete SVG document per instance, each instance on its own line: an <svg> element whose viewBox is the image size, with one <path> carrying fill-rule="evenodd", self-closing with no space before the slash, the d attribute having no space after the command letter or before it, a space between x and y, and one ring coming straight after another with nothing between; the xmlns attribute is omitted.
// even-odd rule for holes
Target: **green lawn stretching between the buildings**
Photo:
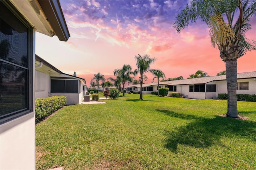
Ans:
<svg viewBox="0 0 256 170"><path fill-rule="evenodd" d="M36 125L36 169L256 169L256 103L126 94Z"/></svg>

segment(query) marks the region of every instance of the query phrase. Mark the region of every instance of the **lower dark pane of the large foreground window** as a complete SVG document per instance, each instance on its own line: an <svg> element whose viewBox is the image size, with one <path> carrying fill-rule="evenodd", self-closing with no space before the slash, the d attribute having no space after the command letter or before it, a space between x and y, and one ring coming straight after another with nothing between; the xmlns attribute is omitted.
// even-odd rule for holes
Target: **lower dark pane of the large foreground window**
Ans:
<svg viewBox="0 0 256 170"><path fill-rule="evenodd" d="M0 83L1 116L28 108L28 70L1 62Z"/></svg>

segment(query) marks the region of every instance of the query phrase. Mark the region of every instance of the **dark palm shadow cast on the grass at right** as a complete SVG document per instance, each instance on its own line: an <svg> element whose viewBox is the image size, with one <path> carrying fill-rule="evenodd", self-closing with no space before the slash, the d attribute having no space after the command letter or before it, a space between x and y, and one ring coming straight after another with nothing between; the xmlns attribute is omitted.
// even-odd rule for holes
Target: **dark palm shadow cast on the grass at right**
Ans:
<svg viewBox="0 0 256 170"><path fill-rule="evenodd" d="M220 139L226 137L238 137L256 142L256 122L232 119L216 116L212 119L196 115L175 113L169 110L157 110L170 117L191 120L184 126L172 131L165 131L167 140L165 147L172 152L177 151L178 144L196 148L206 148L213 145L221 145Z"/></svg>

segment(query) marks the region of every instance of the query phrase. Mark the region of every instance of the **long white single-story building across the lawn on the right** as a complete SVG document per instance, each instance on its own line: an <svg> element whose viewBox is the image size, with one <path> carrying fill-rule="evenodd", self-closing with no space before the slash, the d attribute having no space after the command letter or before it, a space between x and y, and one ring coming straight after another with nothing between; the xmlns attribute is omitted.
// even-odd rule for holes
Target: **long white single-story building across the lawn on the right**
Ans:
<svg viewBox="0 0 256 170"><path fill-rule="evenodd" d="M159 82L159 86L169 88L169 92L180 92L185 98L192 99L216 99L218 94L228 93L226 75ZM145 83L142 88L143 94L157 92L158 82ZM134 89L139 92L140 85L127 86L126 89L126 92ZM255 71L237 74L237 94L256 94Z"/></svg>

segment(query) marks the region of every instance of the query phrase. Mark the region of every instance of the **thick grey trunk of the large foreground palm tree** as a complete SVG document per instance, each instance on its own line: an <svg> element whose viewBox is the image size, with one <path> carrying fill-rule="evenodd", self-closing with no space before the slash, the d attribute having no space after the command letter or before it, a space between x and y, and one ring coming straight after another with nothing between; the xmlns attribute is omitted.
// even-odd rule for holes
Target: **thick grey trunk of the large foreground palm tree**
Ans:
<svg viewBox="0 0 256 170"><path fill-rule="evenodd" d="M226 78L228 88L228 117L239 117L236 101L237 60L226 61Z"/></svg>

